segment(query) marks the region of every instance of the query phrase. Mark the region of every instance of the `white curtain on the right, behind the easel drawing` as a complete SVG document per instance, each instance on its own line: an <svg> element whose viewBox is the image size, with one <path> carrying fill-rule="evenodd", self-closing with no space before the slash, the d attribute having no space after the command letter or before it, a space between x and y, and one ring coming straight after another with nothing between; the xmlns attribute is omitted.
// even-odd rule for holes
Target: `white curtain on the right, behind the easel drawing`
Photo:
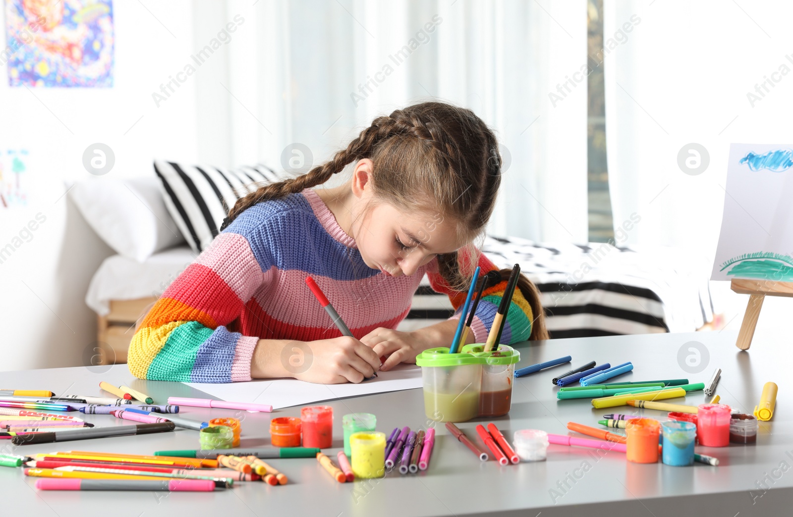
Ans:
<svg viewBox="0 0 793 517"><path fill-rule="evenodd" d="M615 226L637 213L627 242L679 247L708 276L730 143L793 142L793 73L780 72L793 71L793 4L604 0L603 13L604 39L617 42L604 52ZM688 144L707 151L700 174L678 165L679 154L695 170L704 164Z"/></svg>

